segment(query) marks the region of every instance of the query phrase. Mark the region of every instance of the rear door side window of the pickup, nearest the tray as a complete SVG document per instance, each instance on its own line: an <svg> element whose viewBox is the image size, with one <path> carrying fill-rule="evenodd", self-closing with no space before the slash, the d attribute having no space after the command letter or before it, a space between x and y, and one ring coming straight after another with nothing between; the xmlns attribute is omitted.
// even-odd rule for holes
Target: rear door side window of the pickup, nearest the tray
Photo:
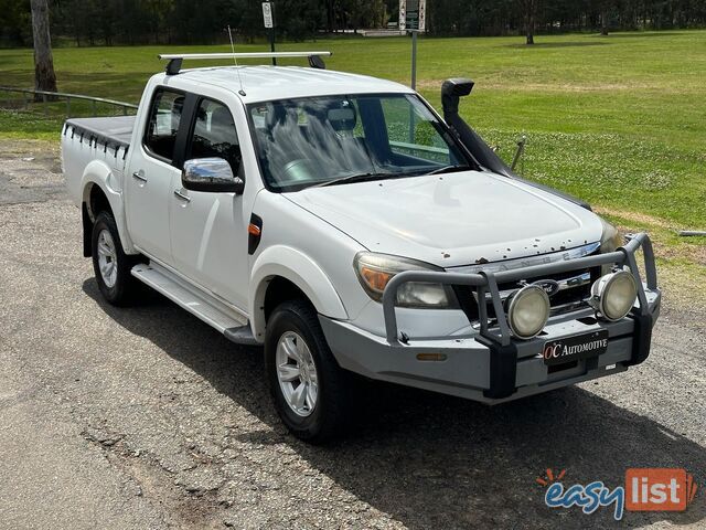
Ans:
<svg viewBox="0 0 706 530"><path fill-rule="evenodd" d="M183 108L183 94L164 88L156 91L145 135L145 147L151 153L172 160Z"/></svg>

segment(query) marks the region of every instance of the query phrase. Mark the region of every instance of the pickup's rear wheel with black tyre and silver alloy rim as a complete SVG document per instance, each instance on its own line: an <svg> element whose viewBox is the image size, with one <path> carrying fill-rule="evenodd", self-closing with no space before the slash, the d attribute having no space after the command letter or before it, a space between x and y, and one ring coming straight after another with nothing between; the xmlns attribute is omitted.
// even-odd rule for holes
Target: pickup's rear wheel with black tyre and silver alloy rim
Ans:
<svg viewBox="0 0 706 530"><path fill-rule="evenodd" d="M122 252L118 227L110 213L98 214L90 242L93 269L103 297L115 306L129 304L139 287L130 274L138 258Z"/></svg>

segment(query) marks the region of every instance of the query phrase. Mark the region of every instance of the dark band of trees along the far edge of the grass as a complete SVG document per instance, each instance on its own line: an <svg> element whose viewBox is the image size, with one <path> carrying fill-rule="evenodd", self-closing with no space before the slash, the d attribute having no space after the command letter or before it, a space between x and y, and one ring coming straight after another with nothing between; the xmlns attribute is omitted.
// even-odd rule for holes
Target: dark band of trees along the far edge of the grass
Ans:
<svg viewBox="0 0 706 530"><path fill-rule="evenodd" d="M383 28L399 0L274 0L277 38L311 39L319 31ZM0 0L0 46L28 45L33 0ZM261 0L43 0L51 32L76 45L227 44L263 42ZM705 28L705 0L427 0L434 35L523 35L576 31ZM49 41L49 36L47 36Z"/></svg>

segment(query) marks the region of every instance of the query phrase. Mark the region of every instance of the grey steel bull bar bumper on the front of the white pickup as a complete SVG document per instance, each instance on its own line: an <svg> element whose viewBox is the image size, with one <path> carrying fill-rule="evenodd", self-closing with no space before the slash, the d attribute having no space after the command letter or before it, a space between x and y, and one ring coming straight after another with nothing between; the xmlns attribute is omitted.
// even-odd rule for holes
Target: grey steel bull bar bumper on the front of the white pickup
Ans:
<svg viewBox="0 0 706 530"><path fill-rule="evenodd" d="M635 259L640 248L644 257L645 284ZM611 264L628 267L639 286L635 306L625 318L616 322L597 320L592 309L586 308L549 319L543 333L534 339L517 340L511 336L499 283ZM472 286L478 290L479 299L484 299L486 293L490 295L499 318L491 320L481 304L478 332L452 338L407 339L397 329L394 305L397 289L407 282ZM386 337L362 330L351 322L323 316L320 320L334 357L345 369L372 379L499 403L622 372L643 362L650 352L660 303L652 245L646 234L638 234L625 246L609 254L502 273L398 274L383 296ZM542 350L545 343L600 330L608 332L608 348L603 353L566 364L544 363Z"/></svg>

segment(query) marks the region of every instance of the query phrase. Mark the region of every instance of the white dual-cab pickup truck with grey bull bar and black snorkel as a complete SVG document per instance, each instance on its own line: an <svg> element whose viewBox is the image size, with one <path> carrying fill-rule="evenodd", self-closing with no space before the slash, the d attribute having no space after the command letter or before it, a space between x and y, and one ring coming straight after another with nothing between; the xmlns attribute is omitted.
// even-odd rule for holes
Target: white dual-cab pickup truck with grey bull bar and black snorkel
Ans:
<svg viewBox="0 0 706 530"><path fill-rule="evenodd" d="M264 344L275 405L311 442L346 425L352 372L492 404L648 357L661 295L645 234L514 174L458 114L472 82L443 83L441 118L322 54L184 71L224 54L163 56L137 116L66 121L109 303L141 282Z"/></svg>

